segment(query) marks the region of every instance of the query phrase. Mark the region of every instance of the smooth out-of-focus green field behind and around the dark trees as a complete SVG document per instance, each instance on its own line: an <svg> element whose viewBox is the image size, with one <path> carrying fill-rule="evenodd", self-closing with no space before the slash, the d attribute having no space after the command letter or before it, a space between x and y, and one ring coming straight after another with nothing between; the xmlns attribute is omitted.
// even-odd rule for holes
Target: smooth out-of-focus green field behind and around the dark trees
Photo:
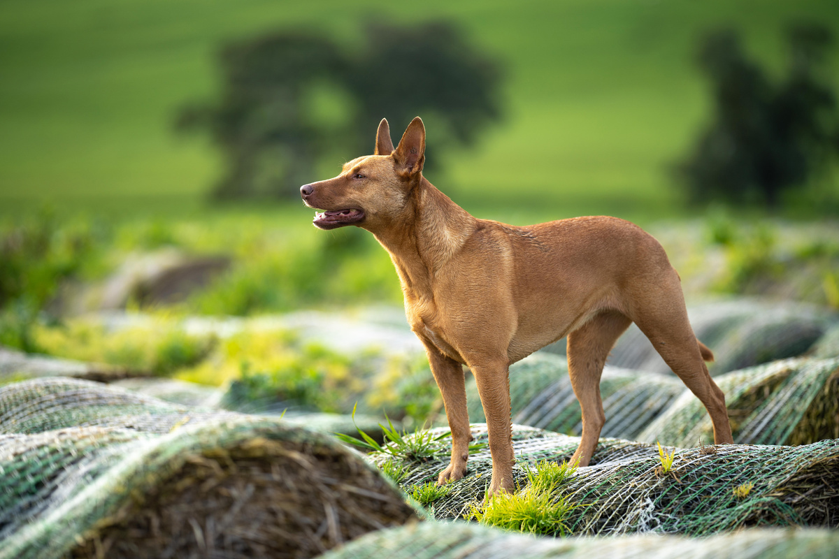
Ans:
<svg viewBox="0 0 839 559"><path fill-rule="evenodd" d="M784 23L839 29L839 4L7 0L0 214L45 200L104 213L198 209L221 162L208 142L177 136L171 122L185 101L217 91L219 46L275 28L352 41L360 23L380 18L449 19L503 61L505 120L477 148L447 156L445 176L430 177L440 189L474 213L514 222L581 213L646 220L690 213L666 165L706 119L696 39L735 25L749 53L780 70ZM433 143L435 119L425 120ZM394 136L405 124L391 123Z"/></svg>

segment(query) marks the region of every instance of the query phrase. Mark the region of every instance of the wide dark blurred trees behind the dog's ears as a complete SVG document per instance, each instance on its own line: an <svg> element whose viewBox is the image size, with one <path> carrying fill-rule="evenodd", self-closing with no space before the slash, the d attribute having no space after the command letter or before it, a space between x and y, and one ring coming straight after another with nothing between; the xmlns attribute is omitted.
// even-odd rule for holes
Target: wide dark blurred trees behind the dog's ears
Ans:
<svg viewBox="0 0 839 559"><path fill-rule="evenodd" d="M320 158L372 153L383 116L399 127L433 114L444 127L437 150L471 144L498 119L498 65L456 28L378 23L364 36L357 51L299 32L221 51L220 101L185 106L176 122L209 132L221 149L227 173L216 198L297 196Z"/></svg>

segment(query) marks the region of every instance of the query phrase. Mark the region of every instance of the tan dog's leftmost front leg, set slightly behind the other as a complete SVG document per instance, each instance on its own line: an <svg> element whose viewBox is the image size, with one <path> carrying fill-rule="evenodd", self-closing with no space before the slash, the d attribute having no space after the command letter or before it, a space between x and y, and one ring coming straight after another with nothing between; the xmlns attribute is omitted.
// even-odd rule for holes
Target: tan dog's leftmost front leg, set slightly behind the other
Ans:
<svg viewBox="0 0 839 559"><path fill-rule="evenodd" d="M431 372L440 387L443 405L446 406L446 419L451 429L451 462L437 478L437 484L442 485L466 475L469 442L472 441L469 411L466 409L466 376L460 363L442 355L433 345L426 344L425 353L428 354Z"/></svg>

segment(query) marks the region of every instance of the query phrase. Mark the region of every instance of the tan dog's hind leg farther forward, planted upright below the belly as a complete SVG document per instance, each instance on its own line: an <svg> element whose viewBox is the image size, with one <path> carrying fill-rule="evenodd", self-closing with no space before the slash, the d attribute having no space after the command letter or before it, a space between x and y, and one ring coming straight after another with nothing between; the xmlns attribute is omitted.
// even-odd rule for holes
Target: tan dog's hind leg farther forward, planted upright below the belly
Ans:
<svg viewBox="0 0 839 559"><path fill-rule="evenodd" d="M615 342L632 323L615 311L597 314L568 334L568 374L582 409L582 438L571 463L587 466L597 448L606 417L600 398L600 376Z"/></svg>

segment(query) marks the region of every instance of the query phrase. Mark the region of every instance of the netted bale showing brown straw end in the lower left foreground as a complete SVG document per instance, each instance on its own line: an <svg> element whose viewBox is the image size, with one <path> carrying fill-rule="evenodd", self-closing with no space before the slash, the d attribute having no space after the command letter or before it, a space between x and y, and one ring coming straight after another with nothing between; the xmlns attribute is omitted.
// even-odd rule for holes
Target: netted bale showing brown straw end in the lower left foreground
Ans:
<svg viewBox="0 0 839 559"><path fill-rule="evenodd" d="M0 559L311 557L417 518L332 437L227 417L0 436Z"/></svg>

